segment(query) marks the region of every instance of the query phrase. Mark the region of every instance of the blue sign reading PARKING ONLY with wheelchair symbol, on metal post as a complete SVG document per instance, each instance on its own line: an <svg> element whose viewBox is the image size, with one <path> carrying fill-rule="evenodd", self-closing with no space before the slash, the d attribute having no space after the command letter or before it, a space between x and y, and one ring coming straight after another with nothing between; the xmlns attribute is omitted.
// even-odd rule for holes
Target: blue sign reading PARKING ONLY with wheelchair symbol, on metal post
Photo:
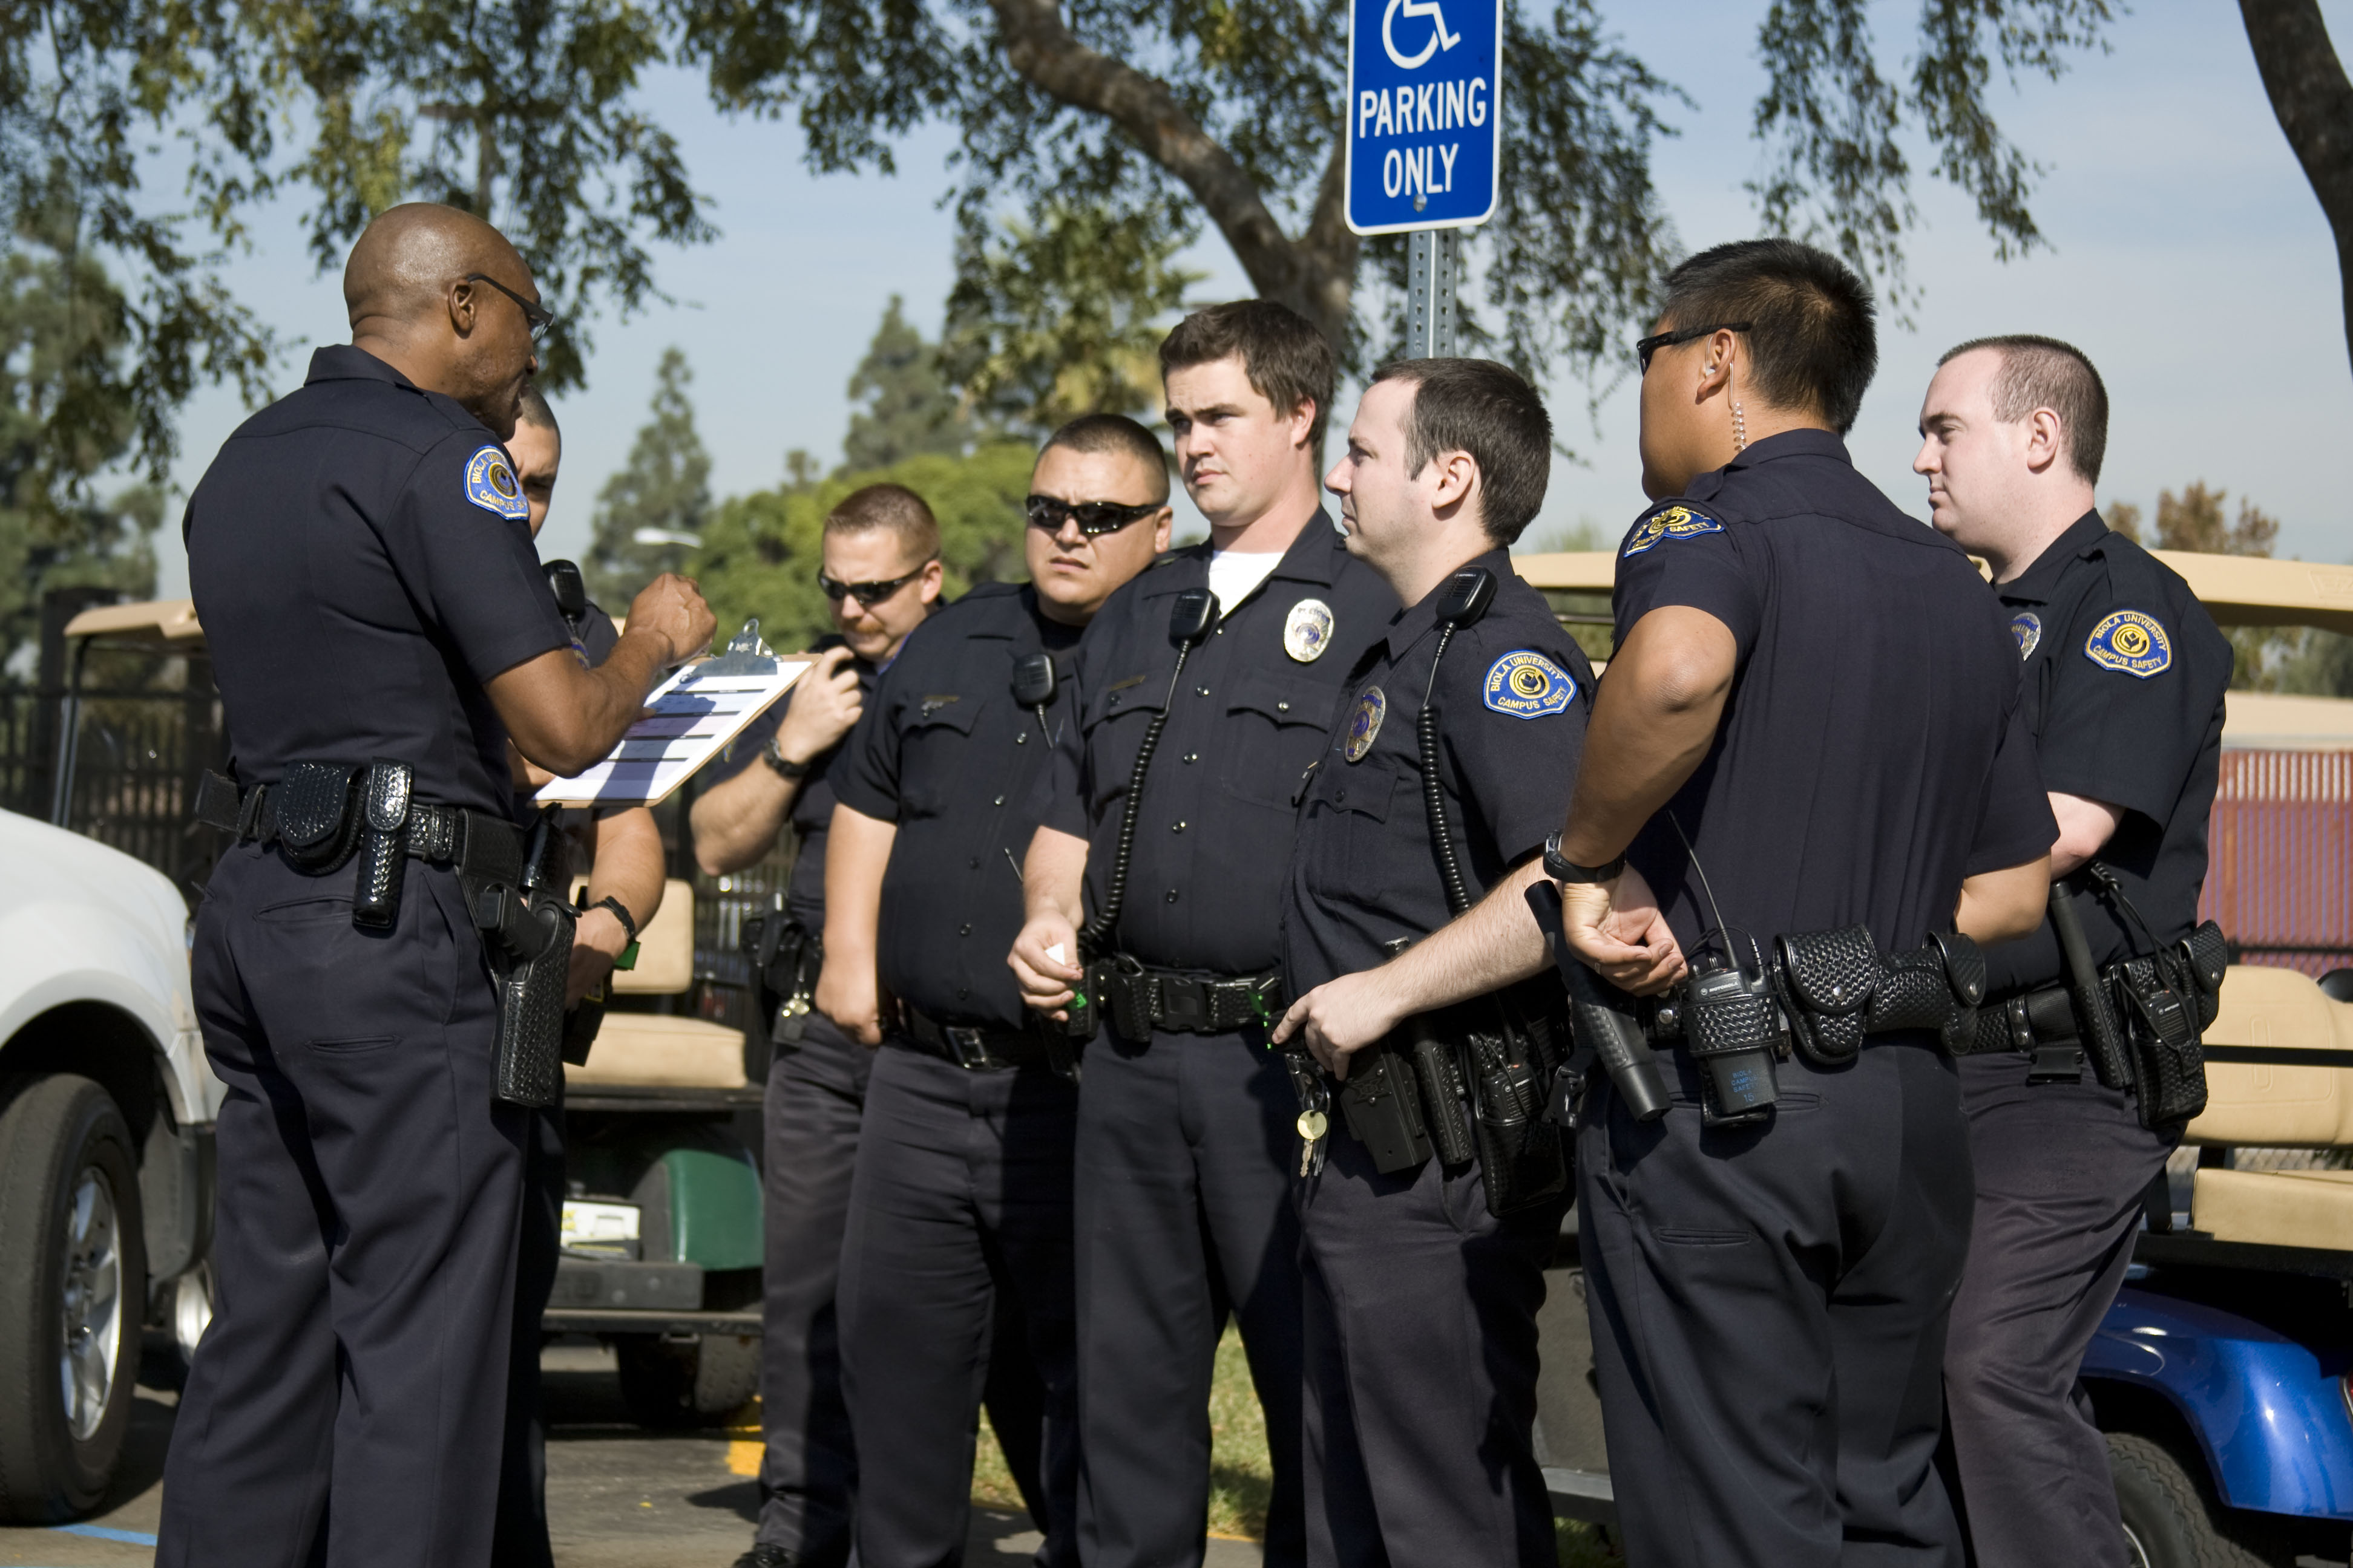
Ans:
<svg viewBox="0 0 2353 1568"><path fill-rule="evenodd" d="M1504 162L1504 0L1351 0L1348 228L1468 228Z"/></svg>

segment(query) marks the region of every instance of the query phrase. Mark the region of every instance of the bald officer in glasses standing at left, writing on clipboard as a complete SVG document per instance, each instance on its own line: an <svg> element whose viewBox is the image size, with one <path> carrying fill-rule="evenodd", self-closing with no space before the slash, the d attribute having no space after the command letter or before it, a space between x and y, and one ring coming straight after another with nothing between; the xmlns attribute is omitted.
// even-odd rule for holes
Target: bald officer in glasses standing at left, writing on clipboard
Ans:
<svg viewBox="0 0 2353 1568"><path fill-rule="evenodd" d="M602 668L572 656L499 447L551 320L534 294L487 223L381 214L344 273L353 346L318 350L188 498L240 788L202 806L235 835L193 943L228 1084L219 1305L158 1563L489 1559L525 1112L492 1098L496 999L459 879L511 886L520 863L508 736L576 773L711 637L661 578ZM409 769L407 839L391 917L362 924L351 860L294 858L280 785L374 759ZM332 797L313 804L296 820L332 827Z"/></svg>

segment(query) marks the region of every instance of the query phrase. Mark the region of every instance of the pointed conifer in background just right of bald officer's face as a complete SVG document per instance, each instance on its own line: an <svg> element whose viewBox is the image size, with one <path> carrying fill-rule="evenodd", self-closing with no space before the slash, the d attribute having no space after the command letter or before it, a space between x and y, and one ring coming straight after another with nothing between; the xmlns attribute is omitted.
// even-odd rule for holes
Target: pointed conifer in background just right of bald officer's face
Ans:
<svg viewBox="0 0 2353 1568"><path fill-rule="evenodd" d="M701 548L711 517L711 454L694 430L692 378L687 355L664 350L654 369L652 418L638 425L628 463L598 491L584 576L588 592L609 609L624 609L654 576L682 571ZM734 628L722 625L720 642L729 635Z"/></svg>

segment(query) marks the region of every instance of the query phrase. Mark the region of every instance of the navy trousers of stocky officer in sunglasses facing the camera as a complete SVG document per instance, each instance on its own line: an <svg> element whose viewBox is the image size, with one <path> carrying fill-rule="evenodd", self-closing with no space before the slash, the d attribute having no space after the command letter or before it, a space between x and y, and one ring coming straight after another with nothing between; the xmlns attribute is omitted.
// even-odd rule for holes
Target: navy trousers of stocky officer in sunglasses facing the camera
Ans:
<svg viewBox="0 0 2353 1568"><path fill-rule="evenodd" d="M1078 1091L1045 1067L967 1072L896 1044L875 1053L835 1293L842 1396L866 1455L861 1568L962 1561L984 1399L1045 1530L1038 1561L1078 1563L1075 1121ZM1035 1371L1007 1378L1019 1356L991 1354L1000 1338L1019 1338ZM1028 1378L1035 1394L1021 1394ZM1035 1479L1024 1483L1024 1469Z"/></svg>

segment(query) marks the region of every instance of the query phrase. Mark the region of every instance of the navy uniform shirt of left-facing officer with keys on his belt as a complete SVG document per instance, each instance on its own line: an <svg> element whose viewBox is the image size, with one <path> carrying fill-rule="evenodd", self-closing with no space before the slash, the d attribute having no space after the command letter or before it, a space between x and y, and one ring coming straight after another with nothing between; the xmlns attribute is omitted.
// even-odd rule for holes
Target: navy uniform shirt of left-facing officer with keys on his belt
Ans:
<svg viewBox="0 0 2353 1568"><path fill-rule="evenodd" d="M1282 896L1282 969L1294 997L1386 961L1384 943L1445 926L1421 792L1417 719L1428 691L1438 785L1464 889L1478 903L1560 827L1586 745L1593 665L1520 581L1511 555L1468 567L1497 576L1487 614L1454 632L1438 684L1438 592L1398 611L1348 675L1332 743L1315 764Z"/></svg>

